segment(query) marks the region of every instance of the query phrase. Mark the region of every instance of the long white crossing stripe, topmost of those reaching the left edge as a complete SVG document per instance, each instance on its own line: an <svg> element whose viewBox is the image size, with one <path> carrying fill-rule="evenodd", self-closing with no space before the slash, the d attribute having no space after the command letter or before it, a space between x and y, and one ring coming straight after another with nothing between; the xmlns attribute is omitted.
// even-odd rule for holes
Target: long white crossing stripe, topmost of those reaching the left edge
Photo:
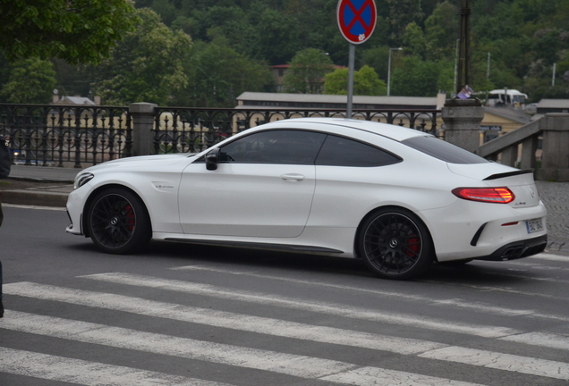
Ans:
<svg viewBox="0 0 569 386"><path fill-rule="evenodd" d="M69 290L31 283L14 283L5 286L5 293L55 300L81 306L96 306L137 315L149 315L183 322L200 323L238 331L251 331L272 336L312 340L357 348L371 348L398 354L417 354L446 345L425 340L412 340L322 327L306 323L287 322L252 315L235 314L194 306L180 306L143 298L131 298L114 294Z"/></svg>

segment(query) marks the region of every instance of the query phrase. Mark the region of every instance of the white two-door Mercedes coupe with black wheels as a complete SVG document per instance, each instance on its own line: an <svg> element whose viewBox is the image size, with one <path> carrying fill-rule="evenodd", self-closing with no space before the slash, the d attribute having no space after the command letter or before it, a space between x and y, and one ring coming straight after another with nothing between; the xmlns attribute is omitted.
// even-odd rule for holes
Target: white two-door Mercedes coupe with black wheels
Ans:
<svg viewBox="0 0 569 386"><path fill-rule="evenodd" d="M271 122L197 155L89 167L68 232L132 253L149 239L360 257L381 277L433 261L541 252L547 210L531 171L419 130L306 118Z"/></svg>

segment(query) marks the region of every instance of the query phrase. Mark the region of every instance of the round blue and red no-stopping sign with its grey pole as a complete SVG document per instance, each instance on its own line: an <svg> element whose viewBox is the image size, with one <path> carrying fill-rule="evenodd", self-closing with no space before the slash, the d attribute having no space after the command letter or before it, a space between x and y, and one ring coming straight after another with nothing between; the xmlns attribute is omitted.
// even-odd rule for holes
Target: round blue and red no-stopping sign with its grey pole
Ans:
<svg viewBox="0 0 569 386"><path fill-rule="evenodd" d="M338 28L350 43L348 59L347 118L352 118L353 63L355 46L369 39L376 28L377 9L374 0L339 0L336 9Z"/></svg>

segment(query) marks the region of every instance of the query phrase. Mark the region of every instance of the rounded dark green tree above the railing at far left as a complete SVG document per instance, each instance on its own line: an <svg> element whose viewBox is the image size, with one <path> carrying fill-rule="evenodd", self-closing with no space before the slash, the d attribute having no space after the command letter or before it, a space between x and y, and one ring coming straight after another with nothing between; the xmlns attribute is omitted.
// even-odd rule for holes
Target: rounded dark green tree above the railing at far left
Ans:
<svg viewBox="0 0 569 386"><path fill-rule="evenodd" d="M51 62L37 57L23 59L14 63L0 98L13 104L47 104L56 82Z"/></svg>

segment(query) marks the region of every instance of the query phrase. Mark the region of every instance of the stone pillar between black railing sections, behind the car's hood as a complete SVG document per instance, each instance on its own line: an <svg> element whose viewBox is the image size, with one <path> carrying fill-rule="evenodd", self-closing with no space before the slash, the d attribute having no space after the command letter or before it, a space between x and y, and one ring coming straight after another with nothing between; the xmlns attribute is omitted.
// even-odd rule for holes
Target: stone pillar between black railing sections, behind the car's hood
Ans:
<svg viewBox="0 0 569 386"><path fill-rule="evenodd" d="M155 104L140 102L129 106L132 117L132 155L154 154L152 146Z"/></svg>

